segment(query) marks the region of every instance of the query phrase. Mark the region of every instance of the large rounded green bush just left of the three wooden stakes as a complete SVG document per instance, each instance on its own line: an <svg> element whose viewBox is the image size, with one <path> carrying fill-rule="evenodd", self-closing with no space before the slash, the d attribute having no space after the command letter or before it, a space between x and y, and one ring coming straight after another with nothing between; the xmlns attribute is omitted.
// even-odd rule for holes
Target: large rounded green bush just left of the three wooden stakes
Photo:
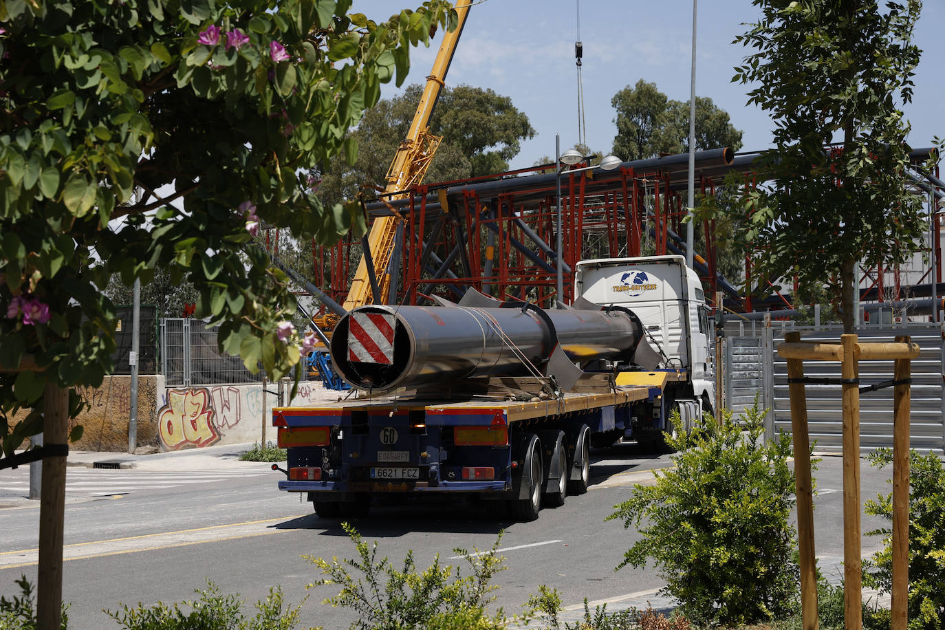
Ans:
<svg viewBox="0 0 945 630"><path fill-rule="evenodd" d="M761 442L763 417L757 404L741 426L730 411L720 424L706 415L687 435L674 413L678 436L665 440L678 451L675 468L655 473L655 485L634 486L608 517L642 535L617 569L651 558L666 580L663 592L696 623L765 621L796 601L791 441L781 434Z"/></svg>

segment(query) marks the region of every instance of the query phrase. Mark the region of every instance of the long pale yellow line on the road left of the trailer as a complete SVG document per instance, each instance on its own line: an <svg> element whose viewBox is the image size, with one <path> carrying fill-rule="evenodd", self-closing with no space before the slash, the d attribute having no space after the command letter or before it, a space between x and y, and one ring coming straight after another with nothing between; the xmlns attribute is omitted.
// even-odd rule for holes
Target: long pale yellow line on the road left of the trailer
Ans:
<svg viewBox="0 0 945 630"><path fill-rule="evenodd" d="M143 534L141 536L77 542L71 545L63 545L62 559L80 560L105 555L117 555L120 553L148 552L158 549L170 549L172 547L184 547L203 542L219 542L222 540L247 538L250 536L282 534L292 530L275 528L261 529L260 525L289 519L298 519L301 518L301 516L283 517L281 519L249 520L241 523L197 527L176 532L162 532L159 534ZM39 549L25 549L0 553L0 569L16 569L35 565L39 562L39 553Z"/></svg>

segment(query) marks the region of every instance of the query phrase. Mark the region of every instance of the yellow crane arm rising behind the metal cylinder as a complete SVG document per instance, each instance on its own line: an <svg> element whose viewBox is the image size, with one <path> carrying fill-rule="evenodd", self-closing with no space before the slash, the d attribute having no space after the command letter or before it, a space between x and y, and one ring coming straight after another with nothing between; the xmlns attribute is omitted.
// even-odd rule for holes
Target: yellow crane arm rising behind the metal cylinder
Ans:
<svg viewBox="0 0 945 630"><path fill-rule="evenodd" d="M413 122L410 124L410 130L407 131L404 142L397 147L397 154L387 171L386 193L403 191L420 183L423 174L426 173L426 169L430 165L434 151L437 150L439 141L442 140L439 136L427 133L427 125L430 122L433 108L437 104L439 91L443 87L446 71L449 70L450 62L453 60L456 43L459 41L463 25L466 23L466 16L472 6L472 0L459 0L458 4L462 4L462 6L455 8L458 16L456 27L453 31L446 31L443 34L443 41L439 44L437 59L433 62L433 70L430 76L426 77L426 85L423 88L420 103L417 105ZM397 220L397 217L394 216L378 217L371 224L368 234L371 260L374 262L377 282L381 289L381 298L384 300L387 300L390 292L390 275L387 273L387 264L390 263L390 256L394 249ZM369 304L372 301L368 264L362 256L361 262L357 265L357 271L354 273L348 297L345 298L344 307L351 311L353 308Z"/></svg>

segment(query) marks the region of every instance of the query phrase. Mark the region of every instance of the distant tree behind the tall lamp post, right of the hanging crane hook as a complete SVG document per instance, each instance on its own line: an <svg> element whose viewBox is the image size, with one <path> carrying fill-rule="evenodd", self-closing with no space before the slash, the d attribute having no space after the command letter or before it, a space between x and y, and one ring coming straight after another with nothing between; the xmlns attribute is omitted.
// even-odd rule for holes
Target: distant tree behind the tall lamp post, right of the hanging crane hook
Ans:
<svg viewBox="0 0 945 630"><path fill-rule="evenodd" d="M633 161L689 151L689 101L672 100L656 83L640 79L632 88L627 85L614 94L610 105L617 111L614 155ZM737 151L742 147L742 132L711 98L696 96L696 150L721 146Z"/></svg>

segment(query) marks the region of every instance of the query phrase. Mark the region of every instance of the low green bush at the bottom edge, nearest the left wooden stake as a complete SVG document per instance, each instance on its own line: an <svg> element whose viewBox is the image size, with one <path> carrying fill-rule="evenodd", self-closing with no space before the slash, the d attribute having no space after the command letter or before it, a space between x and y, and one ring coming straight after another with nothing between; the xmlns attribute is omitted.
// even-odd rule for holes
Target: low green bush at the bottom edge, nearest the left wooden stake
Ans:
<svg viewBox="0 0 945 630"><path fill-rule="evenodd" d="M213 582L206 590L197 589L197 601L168 606L158 602L152 606L126 604L120 610L105 611L127 630L291 630L299 623L301 604L284 609L283 592L269 588L266 599L256 604L256 615L247 618L243 602L236 595L221 595ZM189 607L186 611L182 606Z"/></svg>

